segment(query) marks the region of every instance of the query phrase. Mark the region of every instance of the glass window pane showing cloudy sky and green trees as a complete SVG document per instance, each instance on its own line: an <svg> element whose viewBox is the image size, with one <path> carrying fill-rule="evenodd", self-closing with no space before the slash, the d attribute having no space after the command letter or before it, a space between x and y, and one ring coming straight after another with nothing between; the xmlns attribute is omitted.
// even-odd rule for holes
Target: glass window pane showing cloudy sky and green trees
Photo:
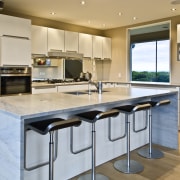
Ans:
<svg viewBox="0 0 180 180"><path fill-rule="evenodd" d="M169 82L169 40L134 43L132 81Z"/></svg>

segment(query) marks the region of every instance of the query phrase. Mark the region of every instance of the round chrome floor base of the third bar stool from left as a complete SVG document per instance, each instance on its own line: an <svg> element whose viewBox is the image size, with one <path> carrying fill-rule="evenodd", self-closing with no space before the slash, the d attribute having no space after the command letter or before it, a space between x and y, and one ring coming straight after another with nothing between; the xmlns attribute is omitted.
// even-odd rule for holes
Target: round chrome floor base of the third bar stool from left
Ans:
<svg viewBox="0 0 180 180"><path fill-rule="evenodd" d="M127 160L119 160L114 163L114 167L123 173L126 174L135 174L144 170L144 167L137 161L130 160L130 165L128 166Z"/></svg>

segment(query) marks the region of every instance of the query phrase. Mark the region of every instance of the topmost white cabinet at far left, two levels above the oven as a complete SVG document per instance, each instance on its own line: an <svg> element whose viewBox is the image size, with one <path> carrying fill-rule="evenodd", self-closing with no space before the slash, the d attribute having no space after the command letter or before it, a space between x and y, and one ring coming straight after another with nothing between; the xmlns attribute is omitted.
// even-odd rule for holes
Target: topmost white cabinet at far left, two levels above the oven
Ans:
<svg viewBox="0 0 180 180"><path fill-rule="evenodd" d="M0 15L0 36L31 38L31 20L14 16Z"/></svg>

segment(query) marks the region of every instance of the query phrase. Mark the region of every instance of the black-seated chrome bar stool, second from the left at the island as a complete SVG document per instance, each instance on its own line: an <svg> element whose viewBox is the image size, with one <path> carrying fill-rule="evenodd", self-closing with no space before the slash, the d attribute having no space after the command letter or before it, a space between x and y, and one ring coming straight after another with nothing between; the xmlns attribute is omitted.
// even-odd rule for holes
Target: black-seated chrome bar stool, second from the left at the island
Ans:
<svg viewBox="0 0 180 180"><path fill-rule="evenodd" d="M83 112L80 114L76 114L76 116L80 117L82 120L91 123L92 124L92 147L91 147L91 153L92 153L92 168L91 168L91 173L90 174L85 174L82 175L78 178L78 180L108 180L109 178L102 175L102 174L96 174L95 173L95 167L96 167L96 130L95 130L95 122L97 120L109 118L109 117L115 117L119 114L118 110L108 110L105 112L102 111L88 111L88 112Z"/></svg>

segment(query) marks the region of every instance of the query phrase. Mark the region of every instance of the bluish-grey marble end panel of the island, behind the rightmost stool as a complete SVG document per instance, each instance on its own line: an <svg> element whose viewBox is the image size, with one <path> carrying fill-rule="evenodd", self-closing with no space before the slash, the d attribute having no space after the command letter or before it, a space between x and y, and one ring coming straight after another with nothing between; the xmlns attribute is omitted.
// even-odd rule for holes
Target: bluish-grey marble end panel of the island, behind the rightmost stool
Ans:
<svg viewBox="0 0 180 180"><path fill-rule="evenodd" d="M152 108L152 141L168 148L178 149L178 98L177 94L152 98L169 99L169 105Z"/></svg>

